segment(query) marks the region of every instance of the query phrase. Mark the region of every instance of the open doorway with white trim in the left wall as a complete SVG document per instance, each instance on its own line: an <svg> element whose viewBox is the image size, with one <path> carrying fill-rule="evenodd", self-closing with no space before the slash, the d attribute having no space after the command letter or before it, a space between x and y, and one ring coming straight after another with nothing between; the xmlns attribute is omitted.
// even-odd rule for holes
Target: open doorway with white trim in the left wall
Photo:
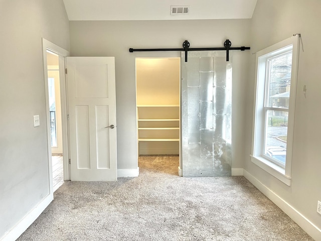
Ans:
<svg viewBox="0 0 321 241"><path fill-rule="evenodd" d="M43 39L50 194L69 180L65 57L69 52Z"/></svg>

